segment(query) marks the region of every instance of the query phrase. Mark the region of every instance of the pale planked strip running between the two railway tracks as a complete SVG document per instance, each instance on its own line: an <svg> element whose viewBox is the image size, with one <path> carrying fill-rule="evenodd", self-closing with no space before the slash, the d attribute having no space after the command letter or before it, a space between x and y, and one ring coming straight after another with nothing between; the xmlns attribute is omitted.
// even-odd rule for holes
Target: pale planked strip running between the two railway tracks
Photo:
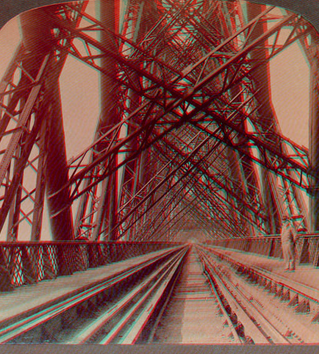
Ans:
<svg viewBox="0 0 319 354"><path fill-rule="evenodd" d="M240 344L219 294L212 292L195 247L166 306L157 318L153 342L161 344Z"/></svg>

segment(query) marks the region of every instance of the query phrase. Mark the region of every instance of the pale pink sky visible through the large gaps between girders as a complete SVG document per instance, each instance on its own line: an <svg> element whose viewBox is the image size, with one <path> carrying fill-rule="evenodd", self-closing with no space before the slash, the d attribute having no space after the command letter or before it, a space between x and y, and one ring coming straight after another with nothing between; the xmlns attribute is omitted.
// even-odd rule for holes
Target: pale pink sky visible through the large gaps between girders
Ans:
<svg viewBox="0 0 319 354"><path fill-rule="evenodd" d="M87 12L94 15L95 7L95 1L91 0ZM0 77L19 40L18 21L13 19L0 31ZM283 135L308 147L309 66L298 44L272 59L270 81L272 102ZM94 136L99 114L98 73L69 57L60 84L67 157L70 159L84 150ZM42 239L50 239L47 221L43 228ZM0 240L3 237L0 235Z"/></svg>

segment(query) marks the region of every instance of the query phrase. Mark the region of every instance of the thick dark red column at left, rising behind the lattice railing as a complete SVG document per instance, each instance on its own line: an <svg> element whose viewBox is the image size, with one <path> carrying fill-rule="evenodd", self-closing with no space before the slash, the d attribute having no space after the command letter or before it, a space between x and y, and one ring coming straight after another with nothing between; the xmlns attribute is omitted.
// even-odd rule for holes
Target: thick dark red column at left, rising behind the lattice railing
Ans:
<svg viewBox="0 0 319 354"><path fill-rule="evenodd" d="M32 53L32 57L27 61L27 65L31 67L31 72L37 72L43 57L52 50L52 23L50 17L43 9L23 14L20 21L23 44ZM39 112L38 114L47 114L52 119L50 129L47 132L49 139L47 152L47 194L49 196L48 208L52 238L54 240L72 240L74 235L71 207L68 205L68 190L62 189L61 192L56 193L68 182L68 169L60 94L55 75L52 74L51 80L47 81L46 90L52 94L52 103L46 106L47 112ZM38 233L39 231L37 231ZM38 237L36 236L36 238Z"/></svg>

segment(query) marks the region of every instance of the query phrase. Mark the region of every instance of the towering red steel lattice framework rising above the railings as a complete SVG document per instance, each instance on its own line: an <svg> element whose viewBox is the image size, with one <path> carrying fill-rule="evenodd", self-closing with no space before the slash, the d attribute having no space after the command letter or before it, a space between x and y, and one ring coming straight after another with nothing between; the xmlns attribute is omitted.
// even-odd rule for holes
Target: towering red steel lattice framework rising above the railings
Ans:
<svg viewBox="0 0 319 354"><path fill-rule="evenodd" d="M88 1L20 16L0 83L1 234L40 240L46 204L54 240L244 238L278 233L284 214L317 231L317 139L309 155L281 133L268 67L298 41L317 71L313 27L236 0L100 5L99 16ZM96 130L72 159L59 88L68 56L100 73L99 116L78 118Z"/></svg>

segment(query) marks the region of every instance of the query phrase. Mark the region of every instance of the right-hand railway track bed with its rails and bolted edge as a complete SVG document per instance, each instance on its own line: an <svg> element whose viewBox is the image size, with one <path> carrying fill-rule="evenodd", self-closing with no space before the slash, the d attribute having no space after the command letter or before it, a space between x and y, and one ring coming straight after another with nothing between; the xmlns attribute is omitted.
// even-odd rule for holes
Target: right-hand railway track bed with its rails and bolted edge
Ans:
<svg viewBox="0 0 319 354"><path fill-rule="evenodd" d="M244 336L256 344L318 343L318 300L309 287L198 247L205 272L225 297ZM256 269L258 268L258 269ZM311 304L311 305L310 305Z"/></svg>

